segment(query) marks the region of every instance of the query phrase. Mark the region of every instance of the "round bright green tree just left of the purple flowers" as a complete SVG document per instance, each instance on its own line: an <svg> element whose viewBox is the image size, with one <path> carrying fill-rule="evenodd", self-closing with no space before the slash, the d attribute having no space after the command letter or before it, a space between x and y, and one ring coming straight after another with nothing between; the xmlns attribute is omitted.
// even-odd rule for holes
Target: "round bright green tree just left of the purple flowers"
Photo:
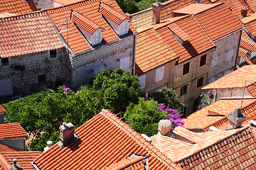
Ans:
<svg viewBox="0 0 256 170"><path fill-rule="evenodd" d="M165 119L164 112L159 108L157 101L139 98L139 103L131 103L124 114L126 123L139 133L147 136L156 135L159 120Z"/></svg>

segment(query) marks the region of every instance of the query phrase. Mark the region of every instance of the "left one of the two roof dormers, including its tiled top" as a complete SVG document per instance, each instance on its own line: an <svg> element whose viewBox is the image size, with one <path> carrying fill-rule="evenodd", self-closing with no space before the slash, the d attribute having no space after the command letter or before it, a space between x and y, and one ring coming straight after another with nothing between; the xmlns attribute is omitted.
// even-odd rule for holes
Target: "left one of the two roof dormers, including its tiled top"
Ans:
<svg viewBox="0 0 256 170"><path fill-rule="evenodd" d="M72 11L71 21L78 26L82 35L85 36L91 45L97 45L102 42L102 32L104 29L100 28L100 26L97 26L88 18L75 11Z"/></svg>

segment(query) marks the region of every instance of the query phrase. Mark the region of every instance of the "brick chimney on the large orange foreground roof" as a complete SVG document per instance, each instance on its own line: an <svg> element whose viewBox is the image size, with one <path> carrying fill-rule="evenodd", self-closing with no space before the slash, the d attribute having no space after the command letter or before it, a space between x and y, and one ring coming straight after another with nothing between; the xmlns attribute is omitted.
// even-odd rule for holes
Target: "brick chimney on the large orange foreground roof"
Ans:
<svg viewBox="0 0 256 170"><path fill-rule="evenodd" d="M60 141L65 145L70 140L73 140L75 133L75 127L72 123L64 122L63 125L60 126Z"/></svg>

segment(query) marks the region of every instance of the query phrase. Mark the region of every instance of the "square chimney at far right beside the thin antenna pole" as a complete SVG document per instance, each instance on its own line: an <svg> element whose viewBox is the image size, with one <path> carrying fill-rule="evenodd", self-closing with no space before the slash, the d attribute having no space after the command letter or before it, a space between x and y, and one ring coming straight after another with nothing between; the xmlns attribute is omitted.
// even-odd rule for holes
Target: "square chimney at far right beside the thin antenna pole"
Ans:
<svg viewBox="0 0 256 170"><path fill-rule="evenodd" d="M242 122L245 121L245 115L241 113L240 108L235 108L235 111L228 113L227 118L230 120L228 130L240 128L242 126Z"/></svg>

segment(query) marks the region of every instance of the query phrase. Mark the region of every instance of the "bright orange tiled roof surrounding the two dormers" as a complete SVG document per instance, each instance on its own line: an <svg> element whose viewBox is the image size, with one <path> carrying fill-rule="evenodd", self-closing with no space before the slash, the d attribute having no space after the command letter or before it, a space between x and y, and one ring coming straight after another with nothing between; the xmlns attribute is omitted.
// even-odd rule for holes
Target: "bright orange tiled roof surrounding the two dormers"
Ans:
<svg viewBox="0 0 256 170"><path fill-rule="evenodd" d="M47 11L50 18L53 20L56 28L58 29L58 31L60 31L65 41L68 42L70 49L75 54L90 50L92 49L92 47L88 44L80 31L74 26L72 21L70 21L71 10L81 13L82 16L85 16L86 18L90 18L90 21L96 23L97 26L99 26L100 28L103 28L103 42L109 43L114 40L119 40L119 37L116 35L116 33L114 33L114 30L112 30L107 21L105 21L105 18L103 18L101 13L99 12L100 4L103 3L112 6L112 8L114 8L116 12L120 13L120 15L124 15L121 8L119 8L117 2L113 0L81 1L76 4L60 6L58 8L53 8ZM67 18L68 31L66 30ZM131 30L132 33L136 33L136 30L131 23L129 23L129 30Z"/></svg>

